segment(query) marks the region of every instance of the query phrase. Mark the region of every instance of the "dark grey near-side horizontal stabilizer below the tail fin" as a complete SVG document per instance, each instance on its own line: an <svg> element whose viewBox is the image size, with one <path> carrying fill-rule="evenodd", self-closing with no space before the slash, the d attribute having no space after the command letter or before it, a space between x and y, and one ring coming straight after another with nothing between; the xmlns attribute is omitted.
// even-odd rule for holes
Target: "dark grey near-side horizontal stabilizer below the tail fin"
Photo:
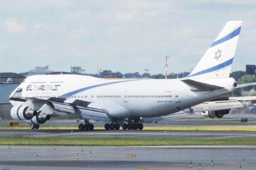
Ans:
<svg viewBox="0 0 256 170"><path fill-rule="evenodd" d="M207 83L202 83L202 82L194 81L191 79L185 79L181 81L186 83L186 85L190 87L191 91L213 91L217 89L224 89L224 87L220 87L217 85L210 85Z"/></svg>

